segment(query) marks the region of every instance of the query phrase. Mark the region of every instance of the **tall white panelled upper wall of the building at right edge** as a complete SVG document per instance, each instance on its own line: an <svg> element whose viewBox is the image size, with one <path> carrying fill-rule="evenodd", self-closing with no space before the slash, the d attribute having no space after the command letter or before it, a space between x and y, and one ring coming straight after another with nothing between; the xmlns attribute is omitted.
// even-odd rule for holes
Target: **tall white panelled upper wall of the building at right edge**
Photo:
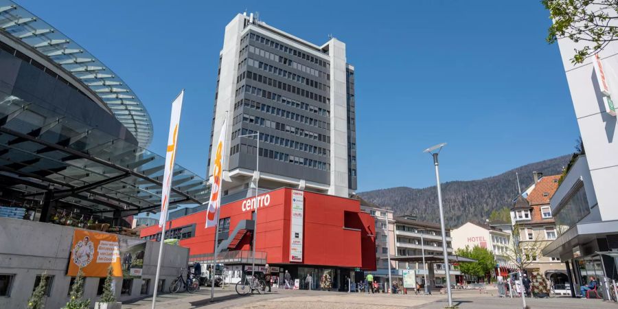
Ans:
<svg viewBox="0 0 618 309"><path fill-rule="evenodd" d="M592 9L592 8L591 8ZM616 21L611 21L617 26ZM560 54L569 82L573 108L580 127L586 157L592 176L599 213L602 220L617 220L615 187L618 183L617 119L605 110L603 96L595 77L594 57L580 65L573 65L573 49L584 46L584 41L574 43L560 39ZM610 43L599 53L613 101L618 100L618 43ZM587 192L586 188L586 192Z"/></svg>

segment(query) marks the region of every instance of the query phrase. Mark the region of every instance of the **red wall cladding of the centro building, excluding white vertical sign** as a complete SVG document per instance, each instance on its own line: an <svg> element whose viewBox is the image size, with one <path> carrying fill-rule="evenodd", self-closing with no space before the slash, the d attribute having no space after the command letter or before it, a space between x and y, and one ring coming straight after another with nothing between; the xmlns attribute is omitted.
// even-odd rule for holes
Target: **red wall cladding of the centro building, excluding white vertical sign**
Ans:
<svg viewBox="0 0 618 309"><path fill-rule="evenodd" d="M304 192L303 262L290 263L291 194L292 189L282 188L260 195L256 250L267 253L268 263L375 268L374 218L361 213L357 200L313 192ZM251 219L251 209L247 208L253 200L246 198L222 205L219 217L230 217L230 233L240 220ZM344 228L345 216L358 216L354 222L362 222L363 227ZM214 251L215 229L205 229L205 221L205 211L201 211L171 222L172 228L196 224L195 236L180 241L181 246L190 249L190 255ZM146 227L140 236L160 231L158 226ZM250 240L243 238L236 249L250 250Z"/></svg>

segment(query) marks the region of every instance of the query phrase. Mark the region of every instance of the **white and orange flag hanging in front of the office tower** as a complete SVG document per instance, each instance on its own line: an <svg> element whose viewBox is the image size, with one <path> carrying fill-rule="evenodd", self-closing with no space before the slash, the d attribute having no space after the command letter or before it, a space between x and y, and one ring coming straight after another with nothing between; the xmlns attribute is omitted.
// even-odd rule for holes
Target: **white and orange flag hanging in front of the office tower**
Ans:
<svg viewBox="0 0 618 309"><path fill-rule="evenodd" d="M227 114L226 114L227 118ZM210 188L210 201L206 211L206 227L216 227L216 214L221 203L221 183L223 181L223 160L225 159L225 119L221 126L221 134L215 148L214 166L212 169L212 183Z"/></svg>

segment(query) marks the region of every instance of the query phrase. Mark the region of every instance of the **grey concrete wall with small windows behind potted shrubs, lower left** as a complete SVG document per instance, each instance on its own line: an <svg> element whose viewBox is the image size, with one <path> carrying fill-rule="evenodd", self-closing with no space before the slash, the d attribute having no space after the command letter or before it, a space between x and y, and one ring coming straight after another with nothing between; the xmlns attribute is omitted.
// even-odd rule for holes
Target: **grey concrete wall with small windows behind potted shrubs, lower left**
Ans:
<svg viewBox="0 0 618 309"><path fill-rule="evenodd" d="M52 291L47 297L46 308L61 308L69 300L67 276L69 251L73 242L73 227L51 223L0 218L0 274L14 275L10 297L0 297L0 308L25 308L34 289L36 275L47 271L53 275ZM128 238L119 236L120 239ZM155 272L159 254L158 242L146 242L143 279L150 279L148 295L155 287ZM189 250L183 247L166 245L161 263L161 279L165 279L164 290L179 273L180 267L187 266ZM130 295L120 295L122 278L116 278L116 297L118 301L139 299L143 279L133 279ZM84 297L94 302L99 298L98 277L88 277L84 283Z"/></svg>

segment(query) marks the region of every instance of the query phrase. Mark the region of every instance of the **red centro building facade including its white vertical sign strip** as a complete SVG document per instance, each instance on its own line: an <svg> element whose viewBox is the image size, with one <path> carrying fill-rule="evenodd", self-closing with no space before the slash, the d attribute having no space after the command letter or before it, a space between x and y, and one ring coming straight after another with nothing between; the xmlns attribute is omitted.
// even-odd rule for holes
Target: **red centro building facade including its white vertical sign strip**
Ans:
<svg viewBox="0 0 618 309"><path fill-rule="evenodd" d="M361 212L360 201L281 188L260 194L258 206L255 250L266 252L271 266L282 266L293 275L299 266L376 269L375 222ZM243 220L252 219L253 211L255 198L221 206L220 240L234 238L228 250L251 250L251 231L231 234ZM194 225L192 237L180 240L180 245L190 249L190 256L213 253L216 230L206 229L205 221L201 211L169 221L167 229ZM157 233L161 229L155 225L142 229L140 236L153 238Z"/></svg>

